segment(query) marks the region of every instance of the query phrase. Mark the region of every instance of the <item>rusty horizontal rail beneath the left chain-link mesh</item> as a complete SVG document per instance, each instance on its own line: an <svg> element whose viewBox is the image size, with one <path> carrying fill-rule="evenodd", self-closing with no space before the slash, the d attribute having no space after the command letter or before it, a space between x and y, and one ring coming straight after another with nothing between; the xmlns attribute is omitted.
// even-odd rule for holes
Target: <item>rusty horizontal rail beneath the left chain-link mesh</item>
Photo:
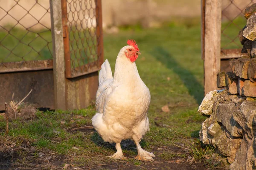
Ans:
<svg viewBox="0 0 256 170"><path fill-rule="evenodd" d="M49 69L52 69L52 59L0 63L0 73Z"/></svg>

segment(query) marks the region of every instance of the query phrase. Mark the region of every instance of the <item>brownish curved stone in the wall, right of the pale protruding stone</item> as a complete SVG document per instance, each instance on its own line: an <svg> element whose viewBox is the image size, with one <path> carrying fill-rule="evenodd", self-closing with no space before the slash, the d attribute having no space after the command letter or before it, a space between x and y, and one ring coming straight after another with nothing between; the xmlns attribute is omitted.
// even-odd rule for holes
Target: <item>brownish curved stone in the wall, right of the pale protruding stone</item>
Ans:
<svg viewBox="0 0 256 170"><path fill-rule="evenodd" d="M242 136L242 127L233 119L233 114L237 111L236 105L231 101L226 101L218 105L217 121L220 122L232 136Z"/></svg>

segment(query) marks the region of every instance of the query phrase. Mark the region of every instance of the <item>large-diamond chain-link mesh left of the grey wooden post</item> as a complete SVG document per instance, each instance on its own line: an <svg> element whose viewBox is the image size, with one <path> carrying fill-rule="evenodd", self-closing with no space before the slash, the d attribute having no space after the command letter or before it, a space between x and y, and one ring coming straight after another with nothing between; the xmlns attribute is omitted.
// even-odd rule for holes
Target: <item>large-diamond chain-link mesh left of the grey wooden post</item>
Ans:
<svg viewBox="0 0 256 170"><path fill-rule="evenodd" d="M0 0L0 66L52 59L49 0Z"/></svg>

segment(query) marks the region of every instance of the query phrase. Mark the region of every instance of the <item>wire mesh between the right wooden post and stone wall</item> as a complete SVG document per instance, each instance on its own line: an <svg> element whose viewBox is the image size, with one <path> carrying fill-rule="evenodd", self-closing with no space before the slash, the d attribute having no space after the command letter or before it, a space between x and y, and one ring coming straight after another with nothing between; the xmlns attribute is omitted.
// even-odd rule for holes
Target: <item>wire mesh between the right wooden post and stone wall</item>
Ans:
<svg viewBox="0 0 256 170"><path fill-rule="evenodd" d="M221 51L242 48L238 34L246 25L244 10L253 3L256 0L222 0Z"/></svg>

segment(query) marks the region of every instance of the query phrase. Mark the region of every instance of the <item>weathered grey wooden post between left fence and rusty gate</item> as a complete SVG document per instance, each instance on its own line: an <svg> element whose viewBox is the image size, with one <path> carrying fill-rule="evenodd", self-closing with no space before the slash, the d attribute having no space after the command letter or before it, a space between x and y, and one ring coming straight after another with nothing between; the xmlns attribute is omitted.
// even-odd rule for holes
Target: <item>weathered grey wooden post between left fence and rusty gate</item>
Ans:
<svg viewBox="0 0 256 170"><path fill-rule="evenodd" d="M52 26L54 108L65 110L65 60L61 0L50 0L50 10Z"/></svg>

